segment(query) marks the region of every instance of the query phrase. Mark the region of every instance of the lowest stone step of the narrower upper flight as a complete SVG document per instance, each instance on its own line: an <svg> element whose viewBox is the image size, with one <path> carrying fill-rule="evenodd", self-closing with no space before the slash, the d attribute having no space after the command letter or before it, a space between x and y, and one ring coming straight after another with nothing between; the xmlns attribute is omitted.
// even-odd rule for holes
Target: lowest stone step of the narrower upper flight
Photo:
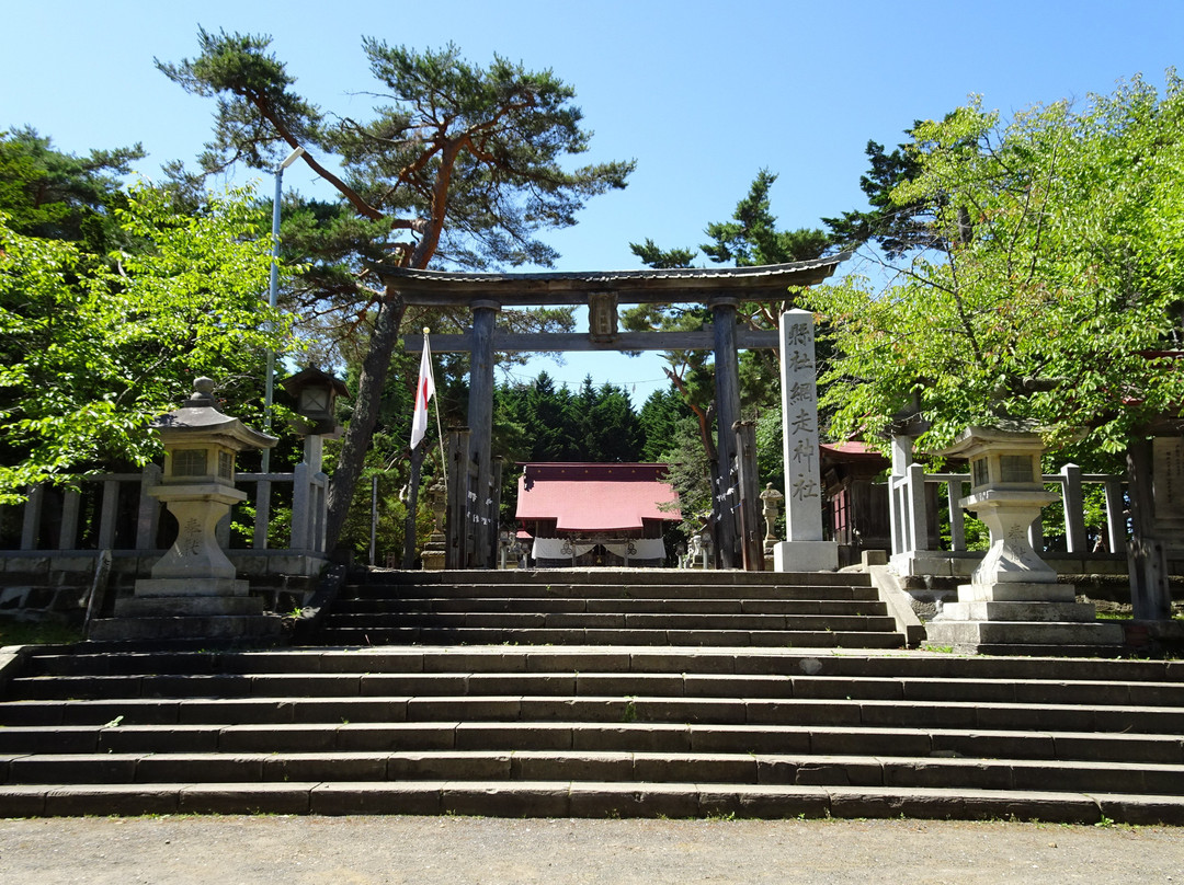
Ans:
<svg viewBox="0 0 1184 885"><path fill-rule="evenodd" d="M324 645L649 645L765 646L779 648L900 648L900 633L793 629L646 629L601 627L336 627L321 632Z"/></svg>

